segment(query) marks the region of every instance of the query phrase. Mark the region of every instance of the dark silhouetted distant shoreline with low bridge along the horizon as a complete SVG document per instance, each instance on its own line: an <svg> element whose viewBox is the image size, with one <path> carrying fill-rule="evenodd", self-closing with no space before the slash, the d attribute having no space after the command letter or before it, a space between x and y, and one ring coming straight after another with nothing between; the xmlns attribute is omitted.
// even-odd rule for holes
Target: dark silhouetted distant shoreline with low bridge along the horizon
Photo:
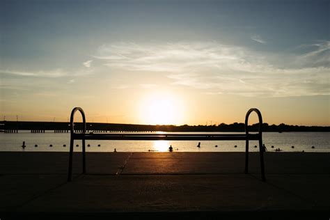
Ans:
<svg viewBox="0 0 330 220"><path fill-rule="evenodd" d="M74 123L76 130L82 129L82 123ZM249 131L257 132L259 124L249 125ZM34 121L0 121L1 131L30 130L45 132L46 130L68 132L69 123L65 122L34 122ZM219 125L134 125L114 123L86 123L88 132L244 132L244 123ZM269 125L262 124L262 132L330 132L330 126L305 125ZM14 132L15 133L15 132Z"/></svg>

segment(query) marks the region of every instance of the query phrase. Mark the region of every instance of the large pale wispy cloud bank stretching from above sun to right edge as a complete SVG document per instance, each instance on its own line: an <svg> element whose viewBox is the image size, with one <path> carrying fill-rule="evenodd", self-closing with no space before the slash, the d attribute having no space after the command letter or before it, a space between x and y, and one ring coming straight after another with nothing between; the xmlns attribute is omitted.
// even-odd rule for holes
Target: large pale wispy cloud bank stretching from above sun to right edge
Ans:
<svg viewBox="0 0 330 220"><path fill-rule="evenodd" d="M164 72L173 85L210 94L329 95L329 42L301 54L262 54L219 42L102 45L95 58L109 68ZM276 57L278 63L271 62ZM304 65L301 64L304 62Z"/></svg>

